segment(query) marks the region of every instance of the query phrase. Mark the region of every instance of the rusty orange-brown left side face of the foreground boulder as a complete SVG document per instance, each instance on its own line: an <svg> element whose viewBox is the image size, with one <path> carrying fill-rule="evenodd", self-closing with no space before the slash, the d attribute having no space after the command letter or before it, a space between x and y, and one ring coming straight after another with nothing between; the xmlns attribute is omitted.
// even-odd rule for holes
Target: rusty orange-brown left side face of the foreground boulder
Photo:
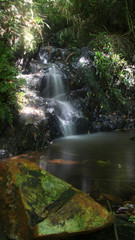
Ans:
<svg viewBox="0 0 135 240"><path fill-rule="evenodd" d="M23 202L19 188L14 184L12 175L5 163L0 166L0 175L3 181L0 182L0 215L4 230L9 239L29 239L32 236L32 229L28 223L24 211Z"/></svg>

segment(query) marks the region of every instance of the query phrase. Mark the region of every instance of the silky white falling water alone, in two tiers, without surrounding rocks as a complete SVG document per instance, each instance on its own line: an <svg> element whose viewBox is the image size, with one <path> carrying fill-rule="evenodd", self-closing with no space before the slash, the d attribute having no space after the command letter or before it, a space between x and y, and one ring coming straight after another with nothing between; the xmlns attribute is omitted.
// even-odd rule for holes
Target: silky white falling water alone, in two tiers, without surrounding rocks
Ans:
<svg viewBox="0 0 135 240"><path fill-rule="evenodd" d="M48 74L44 81L46 81L46 84L43 89L43 95L57 105L56 114L63 136L76 134L74 118L79 117L79 113L70 102L64 99L67 90L64 80L62 79L62 73L57 65L52 64L51 67L49 67Z"/></svg>

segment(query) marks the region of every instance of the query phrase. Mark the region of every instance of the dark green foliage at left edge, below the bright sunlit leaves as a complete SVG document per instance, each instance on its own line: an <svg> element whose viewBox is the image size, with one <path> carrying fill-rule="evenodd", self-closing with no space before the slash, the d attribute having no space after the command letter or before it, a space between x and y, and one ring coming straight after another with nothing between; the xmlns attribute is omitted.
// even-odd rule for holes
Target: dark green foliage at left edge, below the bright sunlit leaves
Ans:
<svg viewBox="0 0 135 240"><path fill-rule="evenodd" d="M12 64L12 53L0 42L0 122L12 124L12 109L16 104L17 71Z"/></svg>

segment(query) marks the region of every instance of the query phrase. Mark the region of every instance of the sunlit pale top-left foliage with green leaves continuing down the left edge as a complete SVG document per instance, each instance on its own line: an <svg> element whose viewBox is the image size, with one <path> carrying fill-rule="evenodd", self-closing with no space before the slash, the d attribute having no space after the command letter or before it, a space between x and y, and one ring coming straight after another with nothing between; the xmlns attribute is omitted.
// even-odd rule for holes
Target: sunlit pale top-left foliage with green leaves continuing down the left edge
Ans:
<svg viewBox="0 0 135 240"><path fill-rule="evenodd" d="M25 55L41 42L43 20L32 0L1 0L0 8L0 123L12 124L13 109L17 107L16 78L13 56L15 51ZM36 40L35 40L36 39ZM7 47L8 46L8 47Z"/></svg>

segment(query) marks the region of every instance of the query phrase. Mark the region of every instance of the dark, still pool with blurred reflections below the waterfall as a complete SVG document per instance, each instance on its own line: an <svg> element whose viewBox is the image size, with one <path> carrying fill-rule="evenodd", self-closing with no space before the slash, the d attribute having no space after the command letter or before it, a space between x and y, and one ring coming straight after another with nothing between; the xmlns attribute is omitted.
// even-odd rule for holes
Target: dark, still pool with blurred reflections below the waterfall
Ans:
<svg viewBox="0 0 135 240"><path fill-rule="evenodd" d="M96 133L59 138L42 152L37 163L91 195L100 189L124 197L128 186L135 187L135 142L130 140L133 135Z"/></svg>

